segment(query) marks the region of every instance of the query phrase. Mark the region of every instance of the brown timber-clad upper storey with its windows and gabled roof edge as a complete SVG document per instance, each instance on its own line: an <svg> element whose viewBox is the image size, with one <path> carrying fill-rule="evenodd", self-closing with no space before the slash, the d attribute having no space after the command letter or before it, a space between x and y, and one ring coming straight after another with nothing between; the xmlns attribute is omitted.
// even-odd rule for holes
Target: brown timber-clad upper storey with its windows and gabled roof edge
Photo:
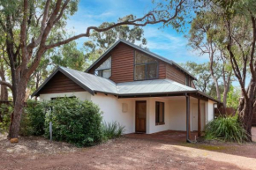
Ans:
<svg viewBox="0 0 256 170"><path fill-rule="evenodd" d="M194 87L196 79L177 63L124 40L111 46L86 72L115 83L168 78Z"/></svg>

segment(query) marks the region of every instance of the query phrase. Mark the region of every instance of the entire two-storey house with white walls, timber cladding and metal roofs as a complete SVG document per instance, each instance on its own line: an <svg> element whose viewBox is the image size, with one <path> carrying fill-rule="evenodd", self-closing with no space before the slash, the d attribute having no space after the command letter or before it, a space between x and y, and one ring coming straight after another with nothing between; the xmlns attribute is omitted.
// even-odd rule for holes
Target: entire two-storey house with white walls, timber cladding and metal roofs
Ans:
<svg viewBox="0 0 256 170"><path fill-rule="evenodd" d="M177 63L119 40L85 72L57 68L33 96L92 100L103 121L119 122L125 133L172 129L186 130L188 137L214 119L219 102L195 89L193 81Z"/></svg>

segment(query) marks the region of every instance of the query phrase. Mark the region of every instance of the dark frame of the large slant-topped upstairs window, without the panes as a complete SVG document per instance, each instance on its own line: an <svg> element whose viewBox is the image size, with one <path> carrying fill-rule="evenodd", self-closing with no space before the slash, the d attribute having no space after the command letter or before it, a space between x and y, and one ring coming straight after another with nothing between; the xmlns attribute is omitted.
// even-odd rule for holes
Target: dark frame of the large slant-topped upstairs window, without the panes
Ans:
<svg viewBox="0 0 256 170"><path fill-rule="evenodd" d="M140 52L140 51L139 51L139 53L142 53L143 55L146 55L145 53ZM150 56L150 55L146 55L146 56L153 57L153 56ZM136 63L135 60L136 60L136 50L133 51L133 81L152 80L152 79L158 79L159 78L159 62L158 62L157 59L155 59L156 62L150 62L150 63ZM147 78L147 65L152 64L152 63L156 63L156 77L155 78ZM145 79L135 79L136 65L145 65Z"/></svg>

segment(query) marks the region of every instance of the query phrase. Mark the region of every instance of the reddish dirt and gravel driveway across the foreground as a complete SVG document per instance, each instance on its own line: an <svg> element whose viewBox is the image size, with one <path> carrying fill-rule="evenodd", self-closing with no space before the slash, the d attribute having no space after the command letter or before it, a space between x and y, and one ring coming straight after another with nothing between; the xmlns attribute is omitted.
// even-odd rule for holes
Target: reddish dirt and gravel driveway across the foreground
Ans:
<svg viewBox="0 0 256 170"><path fill-rule="evenodd" d="M252 131L256 136L256 128ZM0 169L256 169L255 143L186 144L162 136L128 136L83 149L43 139L21 138L19 144L10 145L4 139L0 140ZM15 147L19 151L10 152ZM49 152L37 152L40 147Z"/></svg>

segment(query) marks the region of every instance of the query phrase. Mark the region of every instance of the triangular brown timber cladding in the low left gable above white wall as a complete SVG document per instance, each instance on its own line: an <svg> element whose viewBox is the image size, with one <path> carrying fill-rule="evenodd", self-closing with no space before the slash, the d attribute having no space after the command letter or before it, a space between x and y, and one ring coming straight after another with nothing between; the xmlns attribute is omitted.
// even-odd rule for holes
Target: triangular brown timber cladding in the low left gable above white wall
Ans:
<svg viewBox="0 0 256 170"><path fill-rule="evenodd" d="M60 93L60 92L85 92L85 90L67 78L63 73L57 72L41 89L41 94Z"/></svg>

